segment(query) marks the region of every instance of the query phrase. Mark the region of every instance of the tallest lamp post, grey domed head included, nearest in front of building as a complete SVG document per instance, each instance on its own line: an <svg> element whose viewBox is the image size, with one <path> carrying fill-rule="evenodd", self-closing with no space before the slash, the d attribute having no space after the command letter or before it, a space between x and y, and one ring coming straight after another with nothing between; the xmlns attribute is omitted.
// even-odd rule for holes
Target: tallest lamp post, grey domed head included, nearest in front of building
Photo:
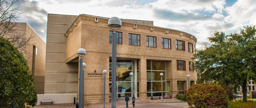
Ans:
<svg viewBox="0 0 256 108"><path fill-rule="evenodd" d="M122 26L122 22L117 17L112 17L108 20L108 26L113 30L112 35L112 96L111 108L116 108L116 31Z"/></svg>

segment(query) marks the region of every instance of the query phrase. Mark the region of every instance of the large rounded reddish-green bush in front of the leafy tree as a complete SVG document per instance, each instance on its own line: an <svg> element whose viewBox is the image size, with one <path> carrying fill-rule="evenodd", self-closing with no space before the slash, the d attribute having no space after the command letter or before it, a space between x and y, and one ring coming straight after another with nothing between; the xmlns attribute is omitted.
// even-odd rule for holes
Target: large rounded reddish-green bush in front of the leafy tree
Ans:
<svg viewBox="0 0 256 108"><path fill-rule="evenodd" d="M189 106L197 108L225 108L228 103L226 90L217 84L196 84L186 93Z"/></svg>

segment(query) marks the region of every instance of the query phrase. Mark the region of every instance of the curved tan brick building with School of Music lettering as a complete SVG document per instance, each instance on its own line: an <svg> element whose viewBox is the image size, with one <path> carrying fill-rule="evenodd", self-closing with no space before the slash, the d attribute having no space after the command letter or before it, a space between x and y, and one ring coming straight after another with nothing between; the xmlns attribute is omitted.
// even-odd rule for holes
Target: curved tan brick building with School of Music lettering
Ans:
<svg viewBox="0 0 256 108"><path fill-rule="evenodd" d="M93 74L103 70L108 71L106 98L111 98L112 31L108 20L85 14L48 14L45 94L78 93L77 50L84 48L85 103L103 102L103 76ZM160 73L164 73L164 95L176 97L177 93L186 93L187 74L191 76L191 85L196 83L191 59L195 53L195 36L153 26L153 21L121 20L122 27L117 32L117 98L130 95L130 72L134 73L133 93L142 100L161 95Z"/></svg>

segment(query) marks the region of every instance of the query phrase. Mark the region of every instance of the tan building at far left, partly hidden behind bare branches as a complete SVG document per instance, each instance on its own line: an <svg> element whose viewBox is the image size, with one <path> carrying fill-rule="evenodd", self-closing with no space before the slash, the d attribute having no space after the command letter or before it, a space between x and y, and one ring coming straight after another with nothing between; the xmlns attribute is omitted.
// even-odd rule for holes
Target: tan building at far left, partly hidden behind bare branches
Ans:
<svg viewBox="0 0 256 108"><path fill-rule="evenodd" d="M34 86L37 94L44 94L46 43L27 23L17 23L17 26L17 31L21 35L27 38L33 37L28 41L29 44L26 46L24 57L32 75L34 75Z"/></svg>

